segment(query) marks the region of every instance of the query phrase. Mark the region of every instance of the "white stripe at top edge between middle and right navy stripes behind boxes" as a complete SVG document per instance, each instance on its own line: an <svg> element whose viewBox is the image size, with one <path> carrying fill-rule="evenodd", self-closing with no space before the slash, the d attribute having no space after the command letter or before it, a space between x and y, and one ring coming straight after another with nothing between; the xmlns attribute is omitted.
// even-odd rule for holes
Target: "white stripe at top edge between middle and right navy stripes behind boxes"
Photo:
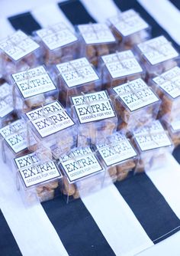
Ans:
<svg viewBox="0 0 180 256"><path fill-rule="evenodd" d="M112 0L81 0L81 2L88 13L98 22L104 22L107 18L120 12Z"/></svg>

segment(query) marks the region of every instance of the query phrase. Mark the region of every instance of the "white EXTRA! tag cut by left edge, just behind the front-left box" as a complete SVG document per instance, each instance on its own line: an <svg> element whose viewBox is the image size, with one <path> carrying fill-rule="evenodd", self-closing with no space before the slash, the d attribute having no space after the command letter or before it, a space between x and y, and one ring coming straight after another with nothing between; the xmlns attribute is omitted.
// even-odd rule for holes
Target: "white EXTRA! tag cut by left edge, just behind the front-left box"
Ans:
<svg viewBox="0 0 180 256"><path fill-rule="evenodd" d="M27 129L24 120L17 120L14 123L3 127L0 130L0 133L14 153L19 153L22 150L27 149ZM35 140L32 136L30 137L30 141L31 145L35 144Z"/></svg>

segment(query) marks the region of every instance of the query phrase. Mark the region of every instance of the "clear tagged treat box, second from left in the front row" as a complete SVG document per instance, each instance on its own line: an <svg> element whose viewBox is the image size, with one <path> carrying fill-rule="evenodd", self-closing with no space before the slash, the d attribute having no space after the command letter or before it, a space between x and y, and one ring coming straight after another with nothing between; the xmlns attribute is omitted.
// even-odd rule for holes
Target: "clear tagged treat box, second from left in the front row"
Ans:
<svg viewBox="0 0 180 256"><path fill-rule="evenodd" d="M62 192L67 203L103 187L104 167L89 146L74 148L60 157L59 169L63 173Z"/></svg>

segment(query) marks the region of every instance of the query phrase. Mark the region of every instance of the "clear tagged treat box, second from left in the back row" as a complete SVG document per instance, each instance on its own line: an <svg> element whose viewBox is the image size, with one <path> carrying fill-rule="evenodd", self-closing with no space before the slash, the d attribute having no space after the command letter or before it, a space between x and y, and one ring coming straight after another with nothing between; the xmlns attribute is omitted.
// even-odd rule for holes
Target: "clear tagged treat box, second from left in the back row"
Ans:
<svg viewBox="0 0 180 256"><path fill-rule="evenodd" d="M34 37L43 48L43 61L48 66L77 57L78 38L63 22L35 31Z"/></svg>

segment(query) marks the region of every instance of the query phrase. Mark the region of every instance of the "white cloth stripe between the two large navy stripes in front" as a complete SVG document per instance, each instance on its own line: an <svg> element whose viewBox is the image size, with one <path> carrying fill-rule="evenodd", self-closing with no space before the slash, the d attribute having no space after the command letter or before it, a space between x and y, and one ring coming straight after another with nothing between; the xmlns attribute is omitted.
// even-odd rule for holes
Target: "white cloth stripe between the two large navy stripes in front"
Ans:
<svg viewBox="0 0 180 256"><path fill-rule="evenodd" d="M82 197L82 202L117 256L133 256L153 245L114 185Z"/></svg>

